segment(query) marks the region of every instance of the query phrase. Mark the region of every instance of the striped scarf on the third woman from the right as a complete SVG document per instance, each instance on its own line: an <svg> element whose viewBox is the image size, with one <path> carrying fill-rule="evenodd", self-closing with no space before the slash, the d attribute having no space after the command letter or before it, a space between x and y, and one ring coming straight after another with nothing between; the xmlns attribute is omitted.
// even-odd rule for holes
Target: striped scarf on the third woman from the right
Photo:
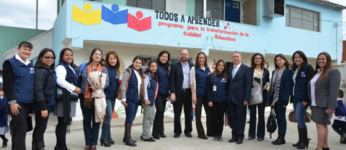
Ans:
<svg viewBox="0 0 346 150"><path fill-rule="evenodd" d="M281 85L281 77L282 73L284 73L284 70L286 69L286 66L281 69L279 72L279 68L275 69L274 75L273 75L273 83L275 87L271 88L271 93L273 94L273 103L271 106L275 106L275 103L279 100L279 92L280 92L280 85Z"/></svg>

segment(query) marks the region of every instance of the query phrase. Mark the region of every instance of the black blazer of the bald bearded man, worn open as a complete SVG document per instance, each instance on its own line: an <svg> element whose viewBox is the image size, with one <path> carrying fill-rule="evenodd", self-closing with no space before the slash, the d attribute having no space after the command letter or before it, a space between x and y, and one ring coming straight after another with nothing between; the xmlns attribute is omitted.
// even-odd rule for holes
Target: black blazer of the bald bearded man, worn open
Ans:
<svg viewBox="0 0 346 150"><path fill-rule="evenodd" d="M190 61L188 61L190 65L190 69L194 64ZM189 74L190 77L190 74ZM170 93L174 93L176 95L176 98L180 97L181 94L181 88L183 88L183 81L184 81L184 75L183 75L183 68L181 66L181 62L176 62L171 65L171 71L170 71ZM190 80L189 80L190 84Z"/></svg>

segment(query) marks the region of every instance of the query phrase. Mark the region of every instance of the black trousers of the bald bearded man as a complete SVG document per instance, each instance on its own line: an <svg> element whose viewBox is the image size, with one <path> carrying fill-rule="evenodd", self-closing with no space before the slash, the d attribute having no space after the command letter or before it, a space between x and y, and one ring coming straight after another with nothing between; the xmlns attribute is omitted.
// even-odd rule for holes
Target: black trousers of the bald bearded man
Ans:
<svg viewBox="0 0 346 150"><path fill-rule="evenodd" d="M191 120L191 109L192 109L192 93L191 89L181 91L180 97L176 97L176 101L173 103L174 109L174 134L180 135L181 130L181 111L184 106L185 114L185 130L184 133L188 134L192 132L192 120Z"/></svg>

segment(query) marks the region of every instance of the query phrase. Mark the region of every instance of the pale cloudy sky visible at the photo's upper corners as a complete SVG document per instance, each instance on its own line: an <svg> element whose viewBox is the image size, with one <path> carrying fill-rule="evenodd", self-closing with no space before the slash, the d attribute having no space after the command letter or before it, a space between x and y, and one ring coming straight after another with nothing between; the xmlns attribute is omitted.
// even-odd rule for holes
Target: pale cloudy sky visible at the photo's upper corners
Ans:
<svg viewBox="0 0 346 150"><path fill-rule="evenodd" d="M290 0L286 0L290 1ZM329 0L346 6L346 0ZM57 0L39 0L38 29L53 28L57 17ZM346 34L346 10L343 10ZM0 26L15 26L20 28L36 28L35 0L0 0ZM346 36L344 37L346 40Z"/></svg>

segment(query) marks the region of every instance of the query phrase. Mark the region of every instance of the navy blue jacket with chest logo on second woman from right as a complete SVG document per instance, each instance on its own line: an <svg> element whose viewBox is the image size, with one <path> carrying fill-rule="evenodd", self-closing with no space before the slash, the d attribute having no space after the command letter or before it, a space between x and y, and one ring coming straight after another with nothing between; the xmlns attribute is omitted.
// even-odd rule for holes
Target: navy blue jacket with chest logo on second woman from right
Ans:
<svg viewBox="0 0 346 150"><path fill-rule="evenodd" d="M309 64L302 66L302 71L297 73L294 84L294 96L292 95L293 102L307 102L309 103L309 95L307 94L307 84L313 75L313 67ZM296 67L295 67L296 68ZM293 68L292 73L294 73Z"/></svg>

